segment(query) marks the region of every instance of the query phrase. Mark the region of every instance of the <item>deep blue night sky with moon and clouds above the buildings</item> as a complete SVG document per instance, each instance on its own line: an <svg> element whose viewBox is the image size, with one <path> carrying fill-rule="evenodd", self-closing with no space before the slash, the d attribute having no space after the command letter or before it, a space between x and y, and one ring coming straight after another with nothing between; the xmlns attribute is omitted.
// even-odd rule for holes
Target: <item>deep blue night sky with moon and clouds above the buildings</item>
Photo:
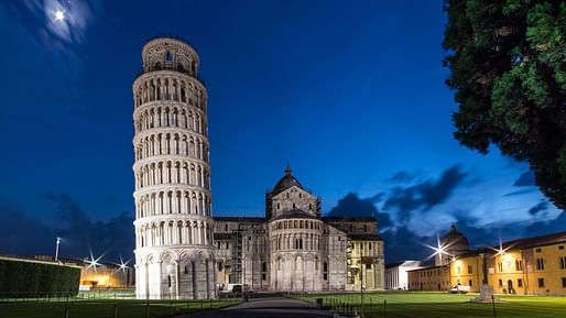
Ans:
<svg viewBox="0 0 566 318"><path fill-rule="evenodd" d="M453 138L442 8L1 1L0 253L53 255L61 235L63 256L132 256L131 87L170 32L200 56L216 216L263 216L289 162L323 213L375 216L388 262L451 223L472 246L566 229L527 164Z"/></svg>

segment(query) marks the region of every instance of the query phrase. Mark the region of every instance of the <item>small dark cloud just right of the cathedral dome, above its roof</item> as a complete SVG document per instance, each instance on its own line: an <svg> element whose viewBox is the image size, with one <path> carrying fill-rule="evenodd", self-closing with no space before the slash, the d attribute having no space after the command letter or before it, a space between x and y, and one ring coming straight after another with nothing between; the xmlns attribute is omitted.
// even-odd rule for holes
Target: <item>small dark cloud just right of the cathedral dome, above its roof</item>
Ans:
<svg viewBox="0 0 566 318"><path fill-rule="evenodd" d="M388 213L381 213L375 207L381 195L371 198L360 199L357 194L349 193L344 198L338 200L336 207L329 212L328 217L371 217L378 220L380 228L391 227L393 222Z"/></svg>

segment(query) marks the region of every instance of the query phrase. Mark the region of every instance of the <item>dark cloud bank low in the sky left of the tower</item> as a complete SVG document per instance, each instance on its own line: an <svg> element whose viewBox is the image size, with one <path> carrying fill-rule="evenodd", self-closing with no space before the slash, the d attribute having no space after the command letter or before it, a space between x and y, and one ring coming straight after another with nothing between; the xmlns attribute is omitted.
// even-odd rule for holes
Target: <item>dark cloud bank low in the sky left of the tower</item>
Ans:
<svg viewBox="0 0 566 318"><path fill-rule="evenodd" d="M55 238L61 237L59 255L83 259L105 254L102 261L131 259L134 249L133 218L120 212L107 221L92 222L68 195L46 195L54 204L61 227L50 227L24 211L0 200L0 253L15 255L53 255Z"/></svg>

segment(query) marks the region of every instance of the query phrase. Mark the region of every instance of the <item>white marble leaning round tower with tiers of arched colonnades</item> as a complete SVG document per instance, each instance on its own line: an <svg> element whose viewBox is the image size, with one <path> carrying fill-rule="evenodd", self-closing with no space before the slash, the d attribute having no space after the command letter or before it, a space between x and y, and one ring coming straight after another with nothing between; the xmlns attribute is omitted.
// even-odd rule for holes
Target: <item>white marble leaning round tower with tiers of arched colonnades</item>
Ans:
<svg viewBox="0 0 566 318"><path fill-rule="evenodd" d="M142 50L133 83L135 293L138 298L216 294L207 92L187 43Z"/></svg>

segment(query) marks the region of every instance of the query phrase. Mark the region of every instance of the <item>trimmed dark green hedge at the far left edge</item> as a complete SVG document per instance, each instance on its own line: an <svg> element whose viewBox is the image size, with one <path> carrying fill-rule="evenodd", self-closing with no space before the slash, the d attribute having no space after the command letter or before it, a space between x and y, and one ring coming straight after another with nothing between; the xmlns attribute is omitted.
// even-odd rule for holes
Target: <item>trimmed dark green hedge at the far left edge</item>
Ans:
<svg viewBox="0 0 566 318"><path fill-rule="evenodd" d="M0 259L0 294L3 296L76 295L79 283L80 267Z"/></svg>

